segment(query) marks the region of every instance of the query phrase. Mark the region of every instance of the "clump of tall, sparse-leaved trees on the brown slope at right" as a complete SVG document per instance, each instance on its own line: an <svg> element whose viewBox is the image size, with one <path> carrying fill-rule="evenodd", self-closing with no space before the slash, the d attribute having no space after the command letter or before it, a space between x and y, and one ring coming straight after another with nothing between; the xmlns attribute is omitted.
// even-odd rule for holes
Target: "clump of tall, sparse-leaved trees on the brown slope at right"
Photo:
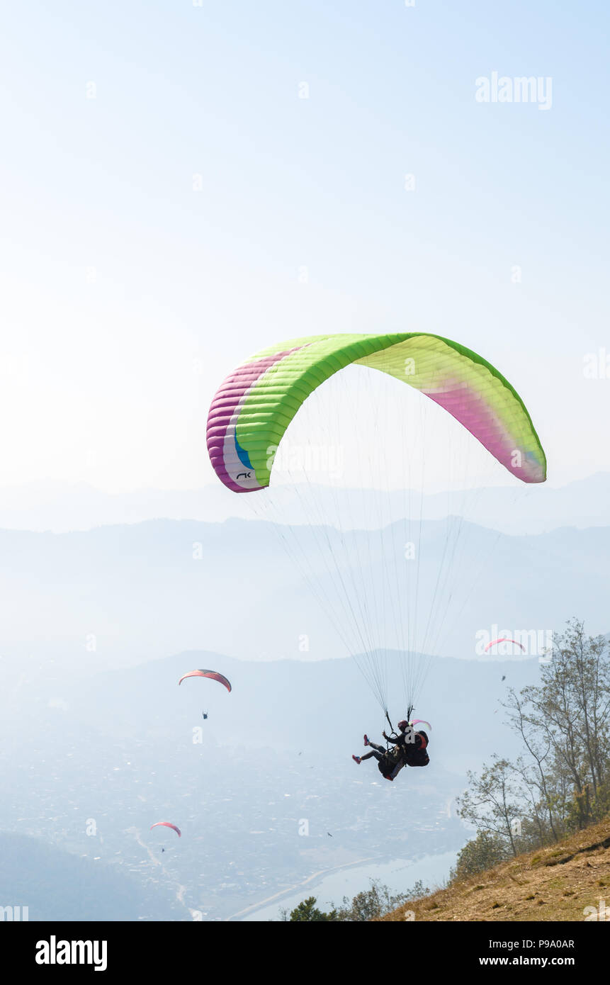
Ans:
<svg viewBox="0 0 610 985"><path fill-rule="evenodd" d="M458 815L477 835L458 856L453 877L558 841L610 813L610 645L587 637L576 620L555 641L541 682L510 690L504 705L522 753L494 756L468 773Z"/></svg>

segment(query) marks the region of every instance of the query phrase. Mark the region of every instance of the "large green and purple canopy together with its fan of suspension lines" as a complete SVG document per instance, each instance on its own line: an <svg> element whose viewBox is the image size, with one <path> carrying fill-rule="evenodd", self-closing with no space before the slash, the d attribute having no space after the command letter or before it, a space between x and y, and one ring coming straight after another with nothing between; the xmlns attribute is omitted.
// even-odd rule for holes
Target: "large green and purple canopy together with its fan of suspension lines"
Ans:
<svg viewBox="0 0 610 985"><path fill-rule="evenodd" d="M498 484L546 479L508 379L422 332L265 347L220 384L206 435L219 481L282 542L386 716L397 677L402 708L418 698L485 564L477 463L484 488L490 469Z"/></svg>

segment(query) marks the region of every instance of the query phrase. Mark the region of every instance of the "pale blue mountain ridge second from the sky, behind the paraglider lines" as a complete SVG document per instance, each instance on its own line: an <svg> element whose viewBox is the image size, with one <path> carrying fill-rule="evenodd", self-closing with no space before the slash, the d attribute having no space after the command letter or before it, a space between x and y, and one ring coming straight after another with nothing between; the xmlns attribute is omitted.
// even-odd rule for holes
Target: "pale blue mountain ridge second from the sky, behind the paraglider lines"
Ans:
<svg viewBox="0 0 610 985"><path fill-rule="evenodd" d="M401 522L388 528L385 553L377 545L359 569L379 591L386 590L391 556L403 563L403 529ZM442 529L438 521L425 524L424 590L442 563ZM237 519L149 520L69 534L0 531L0 655L9 663L52 655L77 672L185 649L252 660L346 655L335 616L320 604L334 589L319 559L319 530L300 531L305 551L310 544L317 597L273 534L266 522ZM610 528L514 537L470 525L468 542L457 587L463 580L472 589L447 623L441 652L475 656L477 632L493 625L561 631L577 614L589 631L606 630L598 621L610 597ZM343 617L337 611L336 619Z"/></svg>

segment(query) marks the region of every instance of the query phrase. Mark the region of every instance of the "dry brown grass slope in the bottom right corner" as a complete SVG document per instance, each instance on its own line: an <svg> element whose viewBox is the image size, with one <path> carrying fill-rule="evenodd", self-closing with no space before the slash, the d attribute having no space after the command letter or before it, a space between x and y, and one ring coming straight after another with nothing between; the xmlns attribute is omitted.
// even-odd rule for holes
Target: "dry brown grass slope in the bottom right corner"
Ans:
<svg viewBox="0 0 610 985"><path fill-rule="evenodd" d="M418 921L582 921L583 908L598 906L600 899L610 906L610 821L405 903L381 919L404 920L412 910Z"/></svg>

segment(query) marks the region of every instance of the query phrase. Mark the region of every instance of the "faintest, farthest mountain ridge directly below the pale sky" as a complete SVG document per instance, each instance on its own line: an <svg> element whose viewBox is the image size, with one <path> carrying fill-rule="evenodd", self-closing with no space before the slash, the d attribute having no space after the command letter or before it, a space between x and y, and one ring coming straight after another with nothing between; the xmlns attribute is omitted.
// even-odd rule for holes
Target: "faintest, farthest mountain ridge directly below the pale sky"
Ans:
<svg viewBox="0 0 610 985"><path fill-rule="evenodd" d="M320 514L332 515L325 504L336 491L315 484L313 488L319 495ZM464 513L464 519L512 534L545 533L566 526L610 526L608 473L597 473L559 489L547 484L517 489L523 494L515 497L514 487L498 487L486 490L483 497L469 497L476 507L473 505L471 512ZM281 501L284 522L303 522L298 489L279 488L275 494ZM347 494L353 501L356 526L367 527L379 513L385 523L404 514L404 490L380 496L366 490L356 496L350 491ZM423 515L430 520L440 519L446 515L446 506L446 493L427 495ZM36 482L0 488L0 528L7 530L65 533L155 519L218 523L232 517L251 520L257 508L250 496L230 493L221 483L198 490L142 489L132 493L104 493L87 483Z"/></svg>

